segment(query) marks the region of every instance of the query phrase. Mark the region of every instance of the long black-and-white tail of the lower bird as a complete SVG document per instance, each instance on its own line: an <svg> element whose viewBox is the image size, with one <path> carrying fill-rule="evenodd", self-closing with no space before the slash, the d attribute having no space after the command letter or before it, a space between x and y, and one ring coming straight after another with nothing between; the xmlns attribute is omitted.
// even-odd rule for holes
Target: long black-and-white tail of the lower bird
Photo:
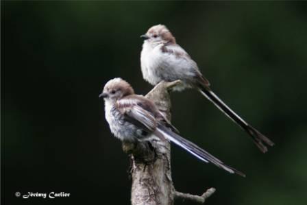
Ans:
<svg viewBox="0 0 307 205"><path fill-rule="evenodd" d="M158 132L158 133L157 133ZM229 167L228 165L225 165L221 160L218 158L212 156L208 152L206 152L204 149L201 149L191 141L186 140L185 138L182 138L182 136L179 136L178 134L175 134L172 132L169 128L166 128L164 125L158 125L158 128L155 133L157 136L161 136L164 138L167 138L169 141L175 143L175 145L178 145L179 147L182 147L190 154L193 154L193 156L196 156L200 160L204 162L211 162L214 165L217 165L217 167L220 167L224 169L225 171L228 171L230 173L236 173L240 176L245 177L245 174L241 171L238 171L232 167Z"/></svg>

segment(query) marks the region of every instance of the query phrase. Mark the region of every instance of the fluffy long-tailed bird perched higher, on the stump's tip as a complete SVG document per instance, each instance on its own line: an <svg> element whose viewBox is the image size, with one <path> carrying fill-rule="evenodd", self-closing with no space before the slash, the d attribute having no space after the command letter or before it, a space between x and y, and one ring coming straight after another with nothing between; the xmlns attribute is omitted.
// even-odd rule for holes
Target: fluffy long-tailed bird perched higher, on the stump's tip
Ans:
<svg viewBox="0 0 307 205"><path fill-rule="evenodd" d="M201 74L197 63L176 43L175 37L165 25L154 25L140 37L144 38L140 53L140 66L144 80L153 86L161 81L181 80L182 84L173 90L197 89L214 106L245 130L261 152L267 152L267 145L274 145L273 141L249 125L213 93L210 82Z"/></svg>

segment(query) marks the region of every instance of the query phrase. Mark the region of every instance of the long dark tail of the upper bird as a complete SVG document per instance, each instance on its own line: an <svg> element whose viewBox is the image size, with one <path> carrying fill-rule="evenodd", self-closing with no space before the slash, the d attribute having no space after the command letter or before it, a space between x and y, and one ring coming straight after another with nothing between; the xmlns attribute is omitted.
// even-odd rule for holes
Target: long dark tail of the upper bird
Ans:
<svg viewBox="0 0 307 205"><path fill-rule="evenodd" d="M264 145L270 145L273 146L274 143L258 132L255 128L251 127L251 125L247 124L241 117L238 116L232 109L230 109L217 95L215 95L210 88L199 88L199 91L201 94L203 94L205 97L207 97L213 104L214 106L217 106L219 110L221 110L224 114L226 114L232 121L234 121L237 125L239 125L245 132L247 132L254 143L257 145L257 147L261 150L261 152L265 153L267 152L267 147Z"/></svg>

